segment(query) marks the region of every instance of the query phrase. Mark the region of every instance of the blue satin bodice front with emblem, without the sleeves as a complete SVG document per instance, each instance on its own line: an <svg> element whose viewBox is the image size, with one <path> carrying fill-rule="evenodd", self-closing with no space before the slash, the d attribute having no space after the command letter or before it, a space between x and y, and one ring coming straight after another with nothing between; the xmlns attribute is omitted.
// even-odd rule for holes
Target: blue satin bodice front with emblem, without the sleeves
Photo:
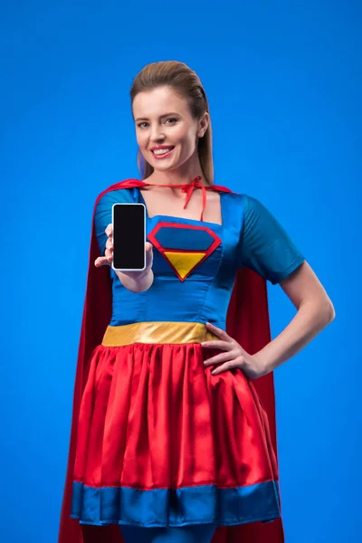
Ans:
<svg viewBox="0 0 362 543"><path fill-rule="evenodd" d="M142 196L138 191L139 199ZM179 217L147 217L147 237L154 247L154 282L145 292L130 292L114 271L110 324L147 321L207 320L225 328L238 268L243 224L241 201L221 194L223 225Z"/></svg>

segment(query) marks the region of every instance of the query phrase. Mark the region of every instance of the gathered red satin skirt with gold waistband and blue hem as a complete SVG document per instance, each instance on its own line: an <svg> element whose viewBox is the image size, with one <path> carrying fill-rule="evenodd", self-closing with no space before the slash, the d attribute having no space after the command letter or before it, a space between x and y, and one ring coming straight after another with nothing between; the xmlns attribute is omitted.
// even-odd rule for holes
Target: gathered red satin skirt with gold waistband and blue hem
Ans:
<svg viewBox="0 0 362 543"><path fill-rule="evenodd" d="M213 376L204 360L218 351L200 346L210 338L205 326L183 324L188 331L172 343L160 327L148 337L138 325L109 327L93 351L71 518L230 526L281 516L268 418L252 381L241 369ZM129 332L135 341L117 345L128 343Z"/></svg>

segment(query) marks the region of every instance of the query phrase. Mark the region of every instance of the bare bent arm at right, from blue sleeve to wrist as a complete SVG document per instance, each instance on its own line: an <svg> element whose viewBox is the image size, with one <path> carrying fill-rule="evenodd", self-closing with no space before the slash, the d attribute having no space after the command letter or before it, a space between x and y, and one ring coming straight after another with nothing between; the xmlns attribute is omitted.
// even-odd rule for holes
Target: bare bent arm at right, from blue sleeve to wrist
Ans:
<svg viewBox="0 0 362 543"><path fill-rule="evenodd" d="M281 334L254 355L266 373L296 355L335 318L333 304L308 262L280 285L298 311Z"/></svg>

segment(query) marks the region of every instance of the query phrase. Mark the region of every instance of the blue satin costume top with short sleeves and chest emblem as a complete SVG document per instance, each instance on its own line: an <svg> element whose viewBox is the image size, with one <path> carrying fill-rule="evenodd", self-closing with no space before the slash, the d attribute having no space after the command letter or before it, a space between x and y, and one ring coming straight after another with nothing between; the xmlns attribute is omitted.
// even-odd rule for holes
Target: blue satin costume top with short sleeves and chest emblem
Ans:
<svg viewBox="0 0 362 543"><path fill-rule="evenodd" d="M304 257L274 217L255 199L220 193L222 225L168 215L147 215L154 247L154 282L148 291L128 291L110 269L110 325L148 321L209 321L226 328L236 271L247 266L272 283L294 271ZM104 195L95 227L104 252L104 229L116 202L145 204L138 188ZM147 209L147 207L146 207Z"/></svg>

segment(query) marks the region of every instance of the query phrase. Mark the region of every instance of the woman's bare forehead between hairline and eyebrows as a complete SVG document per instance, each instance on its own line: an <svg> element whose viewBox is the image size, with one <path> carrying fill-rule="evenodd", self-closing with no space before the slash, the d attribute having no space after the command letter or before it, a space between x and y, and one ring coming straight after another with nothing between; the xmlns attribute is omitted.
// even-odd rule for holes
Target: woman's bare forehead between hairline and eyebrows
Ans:
<svg viewBox="0 0 362 543"><path fill-rule="evenodd" d="M135 117L159 117L167 111L190 114L188 103L171 87L157 87L152 90L138 92L133 100Z"/></svg>

